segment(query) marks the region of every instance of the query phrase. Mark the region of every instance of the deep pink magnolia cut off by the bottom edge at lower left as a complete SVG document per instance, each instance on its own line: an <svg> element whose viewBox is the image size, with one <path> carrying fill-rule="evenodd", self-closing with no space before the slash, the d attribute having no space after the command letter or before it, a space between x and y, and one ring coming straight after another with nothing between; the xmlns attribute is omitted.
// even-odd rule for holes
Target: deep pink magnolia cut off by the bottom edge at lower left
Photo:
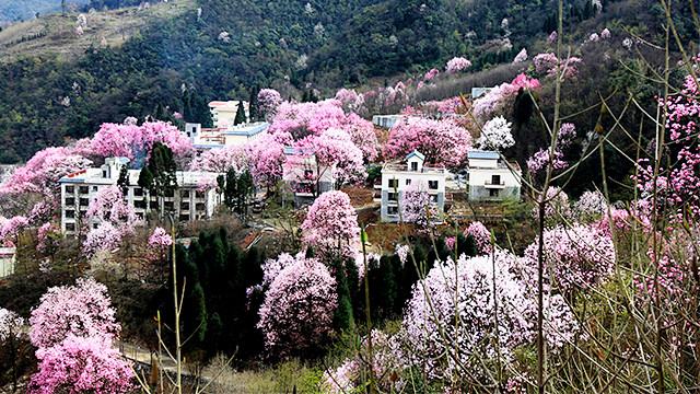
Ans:
<svg viewBox="0 0 700 394"><path fill-rule="evenodd" d="M30 394L131 393L133 371L112 340L77 337L36 351L38 372L32 376Z"/></svg>

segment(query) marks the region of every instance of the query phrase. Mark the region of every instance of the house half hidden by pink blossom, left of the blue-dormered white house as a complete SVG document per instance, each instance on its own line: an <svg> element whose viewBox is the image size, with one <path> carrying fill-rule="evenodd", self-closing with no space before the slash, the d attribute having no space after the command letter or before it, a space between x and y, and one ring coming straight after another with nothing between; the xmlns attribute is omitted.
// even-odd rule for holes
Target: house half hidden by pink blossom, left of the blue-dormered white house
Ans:
<svg viewBox="0 0 700 394"><path fill-rule="evenodd" d="M334 189L335 166L320 164L312 150L284 148L282 179L290 185L296 197L316 197Z"/></svg>

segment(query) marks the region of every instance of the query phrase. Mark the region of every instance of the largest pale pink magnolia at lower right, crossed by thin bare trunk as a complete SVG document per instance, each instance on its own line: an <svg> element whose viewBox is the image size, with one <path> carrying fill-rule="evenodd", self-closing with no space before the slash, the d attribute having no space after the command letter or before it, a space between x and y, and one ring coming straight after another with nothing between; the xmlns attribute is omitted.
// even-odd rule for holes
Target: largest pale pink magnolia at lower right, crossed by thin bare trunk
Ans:
<svg viewBox="0 0 700 394"><path fill-rule="evenodd" d="M511 274L515 259L499 252L495 263L466 255L435 262L413 287L401 336L410 362L427 362L429 379L476 387L497 360L514 362L518 349L535 340L537 302ZM546 306L546 338L556 351L575 339L580 326L560 296L547 297Z"/></svg>

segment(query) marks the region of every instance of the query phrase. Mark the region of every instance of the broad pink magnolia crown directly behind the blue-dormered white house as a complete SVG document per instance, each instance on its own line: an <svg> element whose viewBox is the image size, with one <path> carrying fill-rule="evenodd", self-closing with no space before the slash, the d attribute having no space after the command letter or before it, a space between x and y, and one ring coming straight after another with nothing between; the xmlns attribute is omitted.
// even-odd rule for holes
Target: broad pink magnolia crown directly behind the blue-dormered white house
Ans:
<svg viewBox="0 0 700 394"><path fill-rule="evenodd" d="M382 154L385 159L398 159L418 150L428 163L456 167L466 160L470 147L469 131L451 120L409 117L392 129Z"/></svg>

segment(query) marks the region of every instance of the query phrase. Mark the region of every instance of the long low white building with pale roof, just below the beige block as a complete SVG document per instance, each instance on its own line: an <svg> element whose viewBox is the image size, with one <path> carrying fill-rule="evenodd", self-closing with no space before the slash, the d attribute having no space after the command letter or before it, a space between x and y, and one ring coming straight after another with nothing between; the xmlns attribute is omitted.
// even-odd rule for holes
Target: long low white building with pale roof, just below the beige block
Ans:
<svg viewBox="0 0 700 394"><path fill-rule="evenodd" d="M200 124L185 124L185 135L197 150L244 144L265 135L269 123L257 121L228 128L201 128Z"/></svg>

